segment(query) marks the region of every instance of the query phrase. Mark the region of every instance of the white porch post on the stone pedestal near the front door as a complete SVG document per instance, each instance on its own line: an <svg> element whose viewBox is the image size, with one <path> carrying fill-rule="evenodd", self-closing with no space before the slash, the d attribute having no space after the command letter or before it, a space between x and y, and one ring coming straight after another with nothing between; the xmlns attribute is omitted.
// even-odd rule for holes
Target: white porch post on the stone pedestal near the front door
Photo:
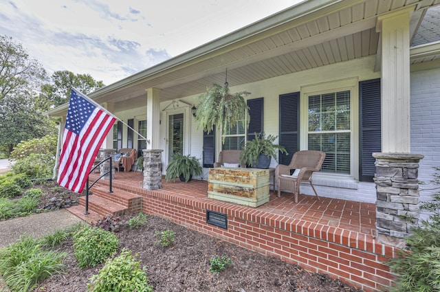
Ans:
<svg viewBox="0 0 440 292"><path fill-rule="evenodd" d="M160 89L146 89L146 148L159 148Z"/></svg>

